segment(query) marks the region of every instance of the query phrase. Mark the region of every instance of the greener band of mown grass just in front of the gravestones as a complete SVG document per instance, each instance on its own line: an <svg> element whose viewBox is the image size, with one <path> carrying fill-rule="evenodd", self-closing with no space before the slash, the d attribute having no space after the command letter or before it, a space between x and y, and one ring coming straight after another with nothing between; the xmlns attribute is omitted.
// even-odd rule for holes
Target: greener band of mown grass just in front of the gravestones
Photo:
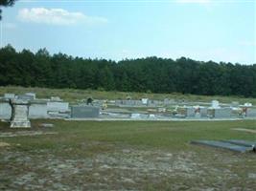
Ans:
<svg viewBox="0 0 256 191"><path fill-rule="evenodd" d="M34 126L42 122L34 120ZM168 150L191 150L193 139L249 139L256 134L233 131L232 128L256 129L255 120L157 122L157 121L65 121L50 120L58 135L38 137L5 138L20 143L24 149L56 148L59 145L79 145L82 141L105 141L112 143L149 146ZM0 124L3 126L3 124ZM7 127L2 127L2 129Z"/></svg>

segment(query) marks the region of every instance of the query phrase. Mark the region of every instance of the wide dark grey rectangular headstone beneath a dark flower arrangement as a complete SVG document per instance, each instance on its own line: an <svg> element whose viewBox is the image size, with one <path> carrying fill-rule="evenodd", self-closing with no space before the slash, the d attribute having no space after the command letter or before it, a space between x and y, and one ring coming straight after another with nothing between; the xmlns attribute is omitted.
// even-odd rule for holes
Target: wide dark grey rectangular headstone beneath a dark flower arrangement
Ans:
<svg viewBox="0 0 256 191"><path fill-rule="evenodd" d="M72 118L86 118L86 117L99 117L100 108L93 106L72 106L71 117Z"/></svg>

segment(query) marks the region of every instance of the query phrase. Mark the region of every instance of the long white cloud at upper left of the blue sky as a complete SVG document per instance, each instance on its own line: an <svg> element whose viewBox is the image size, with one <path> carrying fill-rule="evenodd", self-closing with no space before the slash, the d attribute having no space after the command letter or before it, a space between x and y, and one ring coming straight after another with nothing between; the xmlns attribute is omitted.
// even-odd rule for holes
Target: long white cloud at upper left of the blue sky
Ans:
<svg viewBox="0 0 256 191"><path fill-rule="evenodd" d="M70 26L79 23L102 24L107 19L98 16L88 16L82 12L70 12L62 9L32 8L18 11L17 18L24 22L42 23L58 26Z"/></svg>

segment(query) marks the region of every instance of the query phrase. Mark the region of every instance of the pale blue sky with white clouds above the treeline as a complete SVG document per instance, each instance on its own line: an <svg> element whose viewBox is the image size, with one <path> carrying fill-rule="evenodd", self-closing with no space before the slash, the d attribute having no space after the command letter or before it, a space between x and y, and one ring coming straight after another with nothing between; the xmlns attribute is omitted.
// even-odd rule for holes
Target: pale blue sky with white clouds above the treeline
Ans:
<svg viewBox="0 0 256 191"><path fill-rule="evenodd" d="M17 51L256 63L256 0L19 0L2 16Z"/></svg>

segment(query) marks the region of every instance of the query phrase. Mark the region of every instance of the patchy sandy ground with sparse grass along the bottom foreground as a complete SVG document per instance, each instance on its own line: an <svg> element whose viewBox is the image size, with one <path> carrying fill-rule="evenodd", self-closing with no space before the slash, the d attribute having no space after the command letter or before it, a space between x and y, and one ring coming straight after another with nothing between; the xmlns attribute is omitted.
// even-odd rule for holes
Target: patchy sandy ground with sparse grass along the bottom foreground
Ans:
<svg viewBox="0 0 256 191"><path fill-rule="evenodd" d="M18 151L2 147L0 190L254 190L256 158L217 151L203 159L196 152L104 144L114 148L95 155L59 156L52 150ZM244 159L245 158L245 159ZM245 163L244 163L245 161ZM244 170L238 171L237 165Z"/></svg>

